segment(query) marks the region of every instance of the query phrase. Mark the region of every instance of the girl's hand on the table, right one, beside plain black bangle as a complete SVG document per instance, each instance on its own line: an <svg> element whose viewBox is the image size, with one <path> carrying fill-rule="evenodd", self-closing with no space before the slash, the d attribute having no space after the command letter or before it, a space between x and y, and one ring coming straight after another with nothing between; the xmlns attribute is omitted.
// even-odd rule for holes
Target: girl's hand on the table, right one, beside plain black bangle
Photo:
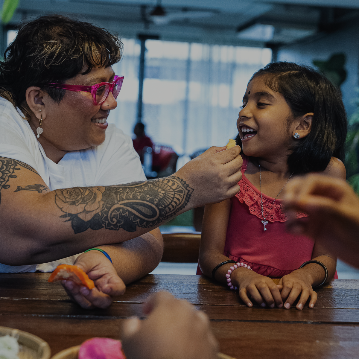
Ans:
<svg viewBox="0 0 359 359"><path fill-rule="evenodd" d="M299 310L303 309L309 297L311 298L309 308L313 308L318 299L317 293L312 288L311 279L304 274L303 269L297 269L283 276L278 283L278 288L283 301L285 301L284 308L286 309L292 306L299 295L300 299L296 306Z"/></svg>

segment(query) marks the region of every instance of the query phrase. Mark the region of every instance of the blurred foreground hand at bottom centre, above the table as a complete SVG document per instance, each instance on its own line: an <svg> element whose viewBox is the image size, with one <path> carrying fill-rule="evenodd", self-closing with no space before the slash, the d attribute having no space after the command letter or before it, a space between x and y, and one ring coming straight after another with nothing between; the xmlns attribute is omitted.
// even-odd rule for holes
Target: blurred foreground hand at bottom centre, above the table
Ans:
<svg viewBox="0 0 359 359"><path fill-rule="evenodd" d="M215 359L218 344L207 316L167 292L152 295L144 305L147 320L126 320L122 347L127 359Z"/></svg>

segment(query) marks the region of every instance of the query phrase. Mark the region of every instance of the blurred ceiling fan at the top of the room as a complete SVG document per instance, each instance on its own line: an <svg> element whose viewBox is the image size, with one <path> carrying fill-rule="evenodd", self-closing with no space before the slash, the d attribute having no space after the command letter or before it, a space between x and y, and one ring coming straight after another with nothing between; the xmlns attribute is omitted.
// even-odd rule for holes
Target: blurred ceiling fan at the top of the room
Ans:
<svg viewBox="0 0 359 359"><path fill-rule="evenodd" d="M182 11L168 13L162 7L161 0L157 0L157 5L153 11L151 11L149 18L156 25L164 25L168 24L172 20L209 18L213 15L213 11L188 11L186 8L183 8Z"/></svg>

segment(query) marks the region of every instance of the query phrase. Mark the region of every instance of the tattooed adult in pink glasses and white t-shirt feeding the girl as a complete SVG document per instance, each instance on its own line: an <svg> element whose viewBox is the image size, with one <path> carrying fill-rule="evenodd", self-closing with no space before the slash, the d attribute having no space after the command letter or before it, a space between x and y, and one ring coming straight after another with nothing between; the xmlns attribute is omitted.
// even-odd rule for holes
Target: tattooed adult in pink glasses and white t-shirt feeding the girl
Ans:
<svg viewBox="0 0 359 359"><path fill-rule="evenodd" d="M237 146L146 181L130 137L106 122L121 51L105 29L56 15L22 25L0 63L0 272L76 264L96 288L63 284L84 308L158 265L160 224L232 197L241 178Z"/></svg>

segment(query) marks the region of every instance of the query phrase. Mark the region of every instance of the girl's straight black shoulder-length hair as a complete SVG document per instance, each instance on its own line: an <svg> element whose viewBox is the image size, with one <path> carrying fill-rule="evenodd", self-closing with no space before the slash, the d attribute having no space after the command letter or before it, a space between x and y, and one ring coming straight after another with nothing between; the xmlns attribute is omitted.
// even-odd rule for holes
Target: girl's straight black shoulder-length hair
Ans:
<svg viewBox="0 0 359 359"><path fill-rule="evenodd" d="M344 161L347 120L340 90L318 71L293 62L270 62L250 81L261 75L284 96L293 117L314 113L311 132L296 141L288 157L289 171L324 171L332 156Z"/></svg>

